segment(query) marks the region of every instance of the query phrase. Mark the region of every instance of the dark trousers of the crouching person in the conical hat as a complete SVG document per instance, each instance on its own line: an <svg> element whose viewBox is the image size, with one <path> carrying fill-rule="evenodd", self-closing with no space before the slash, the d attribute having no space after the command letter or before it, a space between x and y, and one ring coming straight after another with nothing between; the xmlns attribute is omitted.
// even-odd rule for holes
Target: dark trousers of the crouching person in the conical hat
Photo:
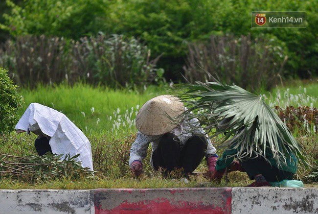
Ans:
<svg viewBox="0 0 318 214"><path fill-rule="evenodd" d="M191 137L181 149L178 138L167 133L162 136L158 147L153 152L152 161L156 170L165 168L170 172L175 168L183 168L185 174L193 172L205 155L207 141L204 137Z"/></svg>

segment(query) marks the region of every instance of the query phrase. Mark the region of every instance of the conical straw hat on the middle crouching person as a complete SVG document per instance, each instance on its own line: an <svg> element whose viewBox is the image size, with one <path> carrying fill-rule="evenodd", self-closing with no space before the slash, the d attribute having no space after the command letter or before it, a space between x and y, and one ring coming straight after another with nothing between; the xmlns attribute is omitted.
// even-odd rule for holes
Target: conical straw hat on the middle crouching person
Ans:
<svg viewBox="0 0 318 214"><path fill-rule="evenodd" d="M176 96L160 95L148 100L136 116L136 127L145 135L161 135L174 129L174 121L184 112L183 103Z"/></svg>

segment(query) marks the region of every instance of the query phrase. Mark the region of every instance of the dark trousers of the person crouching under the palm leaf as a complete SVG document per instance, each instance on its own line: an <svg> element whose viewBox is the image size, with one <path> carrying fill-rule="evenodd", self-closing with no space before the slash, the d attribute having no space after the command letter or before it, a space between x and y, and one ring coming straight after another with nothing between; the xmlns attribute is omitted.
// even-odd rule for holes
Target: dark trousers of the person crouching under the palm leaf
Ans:
<svg viewBox="0 0 318 214"><path fill-rule="evenodd" d="M270 182L282 181L284 179L292 180L294 175L291 172L273 167L264 157L244 159L241 163L251 180L254 180L257 174L262 174Z"/></svg>

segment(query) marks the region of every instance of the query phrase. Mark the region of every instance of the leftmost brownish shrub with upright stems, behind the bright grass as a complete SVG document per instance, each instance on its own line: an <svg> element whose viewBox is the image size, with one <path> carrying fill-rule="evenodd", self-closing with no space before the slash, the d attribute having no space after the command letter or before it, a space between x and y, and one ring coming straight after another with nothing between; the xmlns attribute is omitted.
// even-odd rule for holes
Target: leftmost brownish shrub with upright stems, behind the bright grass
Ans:
<svg viewBox="0 0 318 214"><path fill-rule="evenodd" d="M63 38L20 36L0 47L0 66L20 86L61 82L69 74L70 56Z"/></svg>

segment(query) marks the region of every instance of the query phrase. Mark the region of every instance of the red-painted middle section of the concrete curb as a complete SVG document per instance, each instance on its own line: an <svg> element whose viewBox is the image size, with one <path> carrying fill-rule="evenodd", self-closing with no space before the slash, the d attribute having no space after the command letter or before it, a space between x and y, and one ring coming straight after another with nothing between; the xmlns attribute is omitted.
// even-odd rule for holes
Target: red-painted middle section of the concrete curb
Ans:
<svg viewBox="0 0 318 214"><path fill-rule="evenodd" d="M230 188L100 189L95 214L213 213L230 214Z"/></svg>

